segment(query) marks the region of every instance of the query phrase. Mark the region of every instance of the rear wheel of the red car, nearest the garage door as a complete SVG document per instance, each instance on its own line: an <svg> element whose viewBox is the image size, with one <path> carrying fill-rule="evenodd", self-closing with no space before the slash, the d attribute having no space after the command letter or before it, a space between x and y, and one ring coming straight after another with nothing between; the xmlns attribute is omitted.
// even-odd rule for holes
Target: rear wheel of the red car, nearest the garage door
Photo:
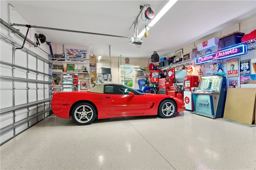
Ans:
<svg viewBox="0 0 256 170"><path fill-rule="evenodd" d="M81 102L73 107L71 117L78 125L90 125L96 118L96 109L91 104Z"/></svg>

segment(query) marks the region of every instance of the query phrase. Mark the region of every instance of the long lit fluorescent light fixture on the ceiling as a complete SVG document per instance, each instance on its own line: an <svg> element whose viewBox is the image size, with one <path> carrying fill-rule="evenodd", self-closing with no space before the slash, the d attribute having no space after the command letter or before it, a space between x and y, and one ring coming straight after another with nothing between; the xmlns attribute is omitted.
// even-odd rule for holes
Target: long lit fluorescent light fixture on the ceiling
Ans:
<svg viewBox="0 0 256 170"><path fill-rule="evenodd" d="M149 30L149 27L153 27L153 25L155 25L155 23L160 20L160 18L162 18L162 16L164 16L164 14L170 10L170 8L177 2L178 0L170 0L165 6L164 8L162 8L162 10L152 19L152 21L148 24L147 30ZM145 33L146 29L143 29L143 31L139 34L138 37L142 37Z"/></svg>

